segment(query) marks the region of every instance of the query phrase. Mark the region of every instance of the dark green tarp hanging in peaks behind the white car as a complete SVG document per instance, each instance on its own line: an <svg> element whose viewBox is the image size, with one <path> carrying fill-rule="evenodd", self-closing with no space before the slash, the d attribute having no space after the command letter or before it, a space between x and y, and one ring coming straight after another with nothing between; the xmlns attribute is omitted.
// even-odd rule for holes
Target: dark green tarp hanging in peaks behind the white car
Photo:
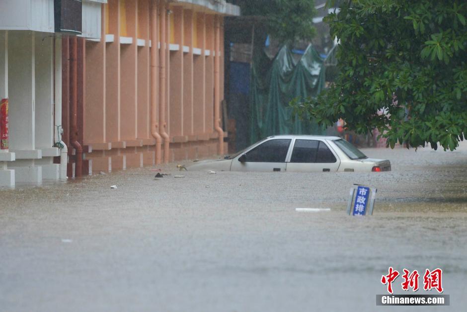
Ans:
<svg viewBox="0 0 467 312"><path fill-rule="evenodd" d="M289 102L315 97L324 88L323 59L309 45L301 59L283 47L270 60L263 51L255 53L251 70L249 141L270 135L322 134L316 123L292 118Z"/></svg>

